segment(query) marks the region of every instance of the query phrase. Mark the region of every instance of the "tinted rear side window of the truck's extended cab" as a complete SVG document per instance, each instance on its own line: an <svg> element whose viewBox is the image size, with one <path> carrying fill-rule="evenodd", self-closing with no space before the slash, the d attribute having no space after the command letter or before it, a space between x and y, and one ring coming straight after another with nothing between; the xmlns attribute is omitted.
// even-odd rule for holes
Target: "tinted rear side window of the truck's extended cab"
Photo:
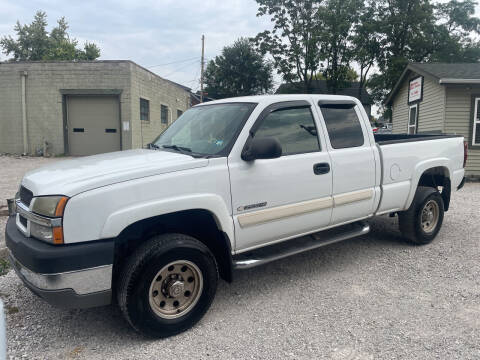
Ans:
<svg viewBox="0 0 480 360"><path fill-rule="evenodd" d="M330 144L334 149L362 146L362 125L354 104L320 104L327 125Z"/></svg>

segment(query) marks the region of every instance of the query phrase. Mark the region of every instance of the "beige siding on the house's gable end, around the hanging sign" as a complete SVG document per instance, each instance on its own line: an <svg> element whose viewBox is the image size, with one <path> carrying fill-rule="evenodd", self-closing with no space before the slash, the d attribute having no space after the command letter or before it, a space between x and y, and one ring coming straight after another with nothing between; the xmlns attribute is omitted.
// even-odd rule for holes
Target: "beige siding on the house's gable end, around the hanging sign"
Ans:
<svg viewBox="0 0 480 360"><path fill-rule="evenodd" d="M410 73L405 77L393 102L393 133L407 132L408 86L409 81L419 75ZM423 78L423 99L418 104L417 132L443 132L443 114L445 108L445 89L437 81L429 77Z"/></svg>

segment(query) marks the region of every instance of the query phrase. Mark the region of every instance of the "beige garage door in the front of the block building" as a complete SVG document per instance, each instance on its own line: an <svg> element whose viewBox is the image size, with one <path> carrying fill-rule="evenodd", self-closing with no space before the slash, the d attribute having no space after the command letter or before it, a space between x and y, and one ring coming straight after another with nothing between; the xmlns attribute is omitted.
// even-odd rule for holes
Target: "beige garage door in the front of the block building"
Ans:
<svg viewBox="0 0 480 360"><path fill-rule="evenodd" d="M83 156L120 150L119 116L116 96L68 96L69 154Z"/></svg>

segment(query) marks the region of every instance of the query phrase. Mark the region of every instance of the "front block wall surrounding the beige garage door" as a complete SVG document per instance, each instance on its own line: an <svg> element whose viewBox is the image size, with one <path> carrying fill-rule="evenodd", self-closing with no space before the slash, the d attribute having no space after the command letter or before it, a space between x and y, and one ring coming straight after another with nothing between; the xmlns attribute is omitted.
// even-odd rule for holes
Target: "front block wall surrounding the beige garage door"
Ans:
<svg viewBox="0 0 480 360"><path fill-rule="evenodd" d="M0 64L0 152L23 152L21 72L27 72L28 152L50 144L63 154L62 90L121 89L121 120L130 122L130 62L24 62ZM131 126L130 126L131 129ZM130 131L122 132L123 149L132 146Z"/></svg>

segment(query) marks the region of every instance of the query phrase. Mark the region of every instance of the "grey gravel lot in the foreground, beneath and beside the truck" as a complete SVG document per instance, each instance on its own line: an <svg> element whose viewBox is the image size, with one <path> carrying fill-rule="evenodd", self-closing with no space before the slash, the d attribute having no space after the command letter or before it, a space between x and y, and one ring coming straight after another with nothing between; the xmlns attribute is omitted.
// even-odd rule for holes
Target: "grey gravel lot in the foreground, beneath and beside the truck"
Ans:
<svg viewBox="0 0 480 360"><path fill-rule="evenodd" d="M480 184L454 194L434 243L405 244L396 219L369 235L220 282L190 331L129 328L115 306L59 310L0 277L13 359L479 359Z"/></svg>

